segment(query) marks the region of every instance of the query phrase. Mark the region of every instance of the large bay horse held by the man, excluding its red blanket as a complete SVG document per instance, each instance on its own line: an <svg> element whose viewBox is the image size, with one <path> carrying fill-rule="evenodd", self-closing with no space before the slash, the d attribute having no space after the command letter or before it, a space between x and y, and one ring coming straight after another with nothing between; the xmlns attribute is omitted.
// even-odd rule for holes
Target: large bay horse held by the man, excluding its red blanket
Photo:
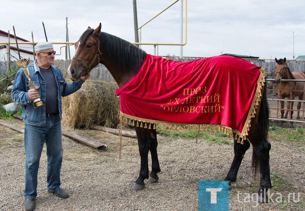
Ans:
<svg viewBox="0 0 305 211"><path fill-rule="evenodd" d="M75 43L75 49L75 55L67 69L67 74L72 81L78 81L82 75L88 74L93 67L101 63L112 74L119 88L124 86L138 73L145 57L148 55L145 51L126 40L101 32L101 23L96 29L88 27ZM242 61L249 63L245 60ZM247 82L244 81L243 83ZM267 141L269 107L266 98L267 92L264 87L266 86L262 88L261 101L255 107L256 109L254 109L254 112L258 115L255 115L251 119L251 127L249 127L247 138L243 140L242 144L240 140L234 139L234 158L231 168L224 179L225 181L229 181L230 187L231 182L236 181L240 164L251 143L253 146L252 174L255 176L256 172L260 171L260 188L257 193L253 193L253 195L257 195L256 199L258 202L266 202L268 199L266 192L271 188L269 167L271 144ZM227 89L227 87L224 87L224 89ZM133 190L143 189L145 187L145 179L147 179L147 182L157 182L159 180L157 173L160 171L155 125L153 127L147 127L145 124L146 127L141 127L137 124L138 122L136 121L135 131L138 138L141 167L139 177L132 185ZM152 170L150 174L148 166L149 151L152 159Z"/></svg>

